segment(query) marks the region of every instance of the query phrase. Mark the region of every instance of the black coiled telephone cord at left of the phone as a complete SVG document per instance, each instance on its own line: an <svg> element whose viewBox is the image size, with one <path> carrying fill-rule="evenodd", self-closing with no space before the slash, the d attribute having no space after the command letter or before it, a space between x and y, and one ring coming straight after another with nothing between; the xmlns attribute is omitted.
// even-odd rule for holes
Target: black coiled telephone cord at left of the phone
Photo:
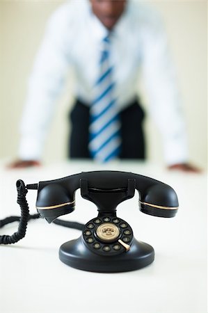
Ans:
<svg viewBox="0 0 208 313"><path fill-rule="evenodd" d="M27 223L31 219L40 218L39 214L29 214L29 205L26 201L26 193L28 192L24 182L19 179L17 180L17 203L21 209L21 216L9 216L0 220L0 228L15 221L19 221L19 226L17 232L10 235L0 236L0 244L8 245L10 243L16 243L20 239L24 238L26 234ZM54 224L61 225L64 227L74 228L76 230L82 230L83 224L77 222L68 222L67 220L56 219L53 222Z"/></svg>

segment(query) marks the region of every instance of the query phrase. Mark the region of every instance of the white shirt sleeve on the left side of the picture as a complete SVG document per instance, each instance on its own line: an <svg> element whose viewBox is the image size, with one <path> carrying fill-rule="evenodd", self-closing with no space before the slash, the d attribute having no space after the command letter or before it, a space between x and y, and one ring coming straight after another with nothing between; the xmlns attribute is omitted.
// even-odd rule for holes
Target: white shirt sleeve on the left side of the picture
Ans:
<svg viewBox="0 0 208 313"><path fill-rule="evenodd" d="M69 67L64 33L65 25L59 11L49 19L29 79L20 125L20 159L38 160L42 157L47 130L54 115L56 100L63 90Z"/></svg>

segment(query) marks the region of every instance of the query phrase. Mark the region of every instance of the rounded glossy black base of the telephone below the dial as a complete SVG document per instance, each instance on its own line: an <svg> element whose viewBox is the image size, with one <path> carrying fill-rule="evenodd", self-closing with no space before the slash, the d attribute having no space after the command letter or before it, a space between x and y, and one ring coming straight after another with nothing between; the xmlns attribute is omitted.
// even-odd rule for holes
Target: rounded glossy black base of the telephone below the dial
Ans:
<svg viewBox="0 0 208 313"><path fill-rule="evenodd" d="M142 241L133 240L131 248L120 255L102 257L91 252L81 237L63 243L59 259L73 268L99 273L134 271L154 261L154 249Z"/></svg>

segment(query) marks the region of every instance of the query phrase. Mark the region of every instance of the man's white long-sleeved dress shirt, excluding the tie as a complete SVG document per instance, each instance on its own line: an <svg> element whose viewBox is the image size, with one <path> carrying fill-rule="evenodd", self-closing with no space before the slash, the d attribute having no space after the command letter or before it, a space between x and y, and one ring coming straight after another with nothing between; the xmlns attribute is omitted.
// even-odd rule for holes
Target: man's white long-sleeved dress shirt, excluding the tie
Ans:
<svg viewBox="0 0 208 313"><path fill-rule="evenodd" d="M106 34L107 29L93 15L88 0L67 1L51 16L29 79L21 124L21 159L41 159L57 98L72 67L76 77L74 96L90 105L99 71L100 47ZM150 114L163 138L166 163L187 161L180 99L158 15L129 0L113 28L111 46L119 109L135 98L138 75L142 74Z"/></svg>

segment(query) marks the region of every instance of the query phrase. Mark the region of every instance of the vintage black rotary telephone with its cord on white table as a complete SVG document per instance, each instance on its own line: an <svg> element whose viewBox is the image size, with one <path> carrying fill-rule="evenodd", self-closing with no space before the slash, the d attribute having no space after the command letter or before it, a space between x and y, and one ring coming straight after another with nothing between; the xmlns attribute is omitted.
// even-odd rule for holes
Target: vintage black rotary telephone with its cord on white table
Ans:
<svg viewBox="0 0 208 313"><path fill-rule="evenodd" d="M22 239L29 218L40 216L51 223L58 216L74 211L75 191L79 188L84 199L96 204L98 215L86 225L72 223L70 227L82 229L82 234L78 239L63 243L59 249L61 261L84 271L106 273L132 271L152 263L154 249L134 238L130 225L116 215L116 208L120 202L133 198L136 189L143 213L173 217L179 206L177 195L167 184L131 172L81 172L26 186L19 179L17 203L22 210L19 228L12 236L0 236L0 243L15 243ZM26 192L29 189L38 190L38 214L34 216L29 215L26 202ZM0 227L13 220L15 218L1 220Z"/></svg>

